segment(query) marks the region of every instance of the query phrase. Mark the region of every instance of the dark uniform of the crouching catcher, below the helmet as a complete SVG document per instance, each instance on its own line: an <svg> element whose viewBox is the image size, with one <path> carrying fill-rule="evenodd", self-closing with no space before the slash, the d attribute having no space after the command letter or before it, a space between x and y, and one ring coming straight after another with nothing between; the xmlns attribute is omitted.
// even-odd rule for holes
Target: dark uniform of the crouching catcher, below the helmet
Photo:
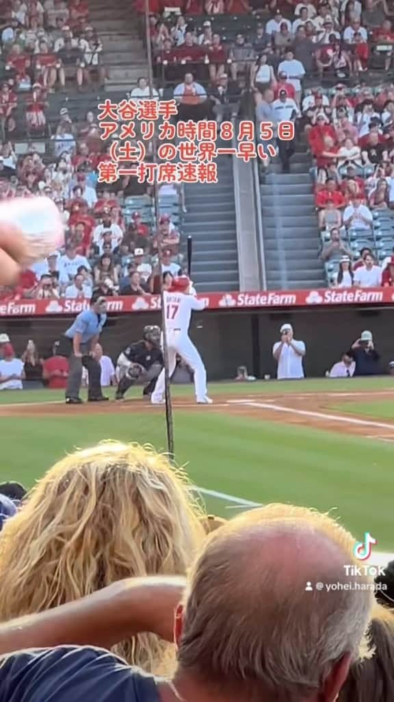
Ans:
<svg viewBox="0 0 394 702"><path fill-rule="evenodd" d="M161 349L151 345L149 342L147 342L147 340L137 341L134 344L130 344L130 346L122 351L118 358L118 364L121 365L121 362L139 364L145 369L145 371L147 371L146 379L149 380L149 383L144 388L144 395L150 395L154 390L156 379L164 364ZM116 390L115 396L116 399L123 399L125 392L127 392L127 390L134 385L135 381L138 380L139 377L144 378L144 374L141 376L138 376L137 374L133 377L133 374L130 375L128 372L126 372L123 378L119 380L118 389Z"/></svg>

